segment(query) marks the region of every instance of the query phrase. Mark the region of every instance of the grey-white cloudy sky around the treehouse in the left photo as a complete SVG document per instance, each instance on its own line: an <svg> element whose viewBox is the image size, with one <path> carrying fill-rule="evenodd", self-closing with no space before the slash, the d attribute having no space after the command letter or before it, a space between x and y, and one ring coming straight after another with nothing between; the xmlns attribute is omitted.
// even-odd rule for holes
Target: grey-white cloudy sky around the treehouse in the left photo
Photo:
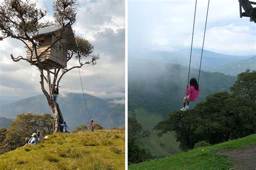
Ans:
<svg viewBox="0 0 256 170"><path fill-rule="evenodd" d="M37 2L37 8L48 11L43 22L54 20L52 1L32 2ZM79 0L78 4L76 23L72 29L76 35L89 40L95 47L94 53L100 55L96 65L80 69L84 92L100 98L125 97L125 2ZM11 38L0 41L1 101L16 101L43 94L36 67L28 62L12 61L11 53L25 56L22 42ZM68 67L75 62L70 60ZM60 96L82 93L78 69L65 74L59 86ZM124 104L124 100L116 102Z"/></svg>

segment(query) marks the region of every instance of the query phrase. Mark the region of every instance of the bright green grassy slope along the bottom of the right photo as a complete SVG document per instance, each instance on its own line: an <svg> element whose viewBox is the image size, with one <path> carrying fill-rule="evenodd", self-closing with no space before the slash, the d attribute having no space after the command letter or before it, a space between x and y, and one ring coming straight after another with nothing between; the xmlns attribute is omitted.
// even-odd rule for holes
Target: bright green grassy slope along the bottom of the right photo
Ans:
<svg viewBox="0 0 256 170"><path fill-rule="evenodd" d="M225 151L256 145L256 134L218 145L199 147L163 159L154 159L129 166L129 169L230 169L235 162ZM248 153L250 154L250 153Z"/></svg>

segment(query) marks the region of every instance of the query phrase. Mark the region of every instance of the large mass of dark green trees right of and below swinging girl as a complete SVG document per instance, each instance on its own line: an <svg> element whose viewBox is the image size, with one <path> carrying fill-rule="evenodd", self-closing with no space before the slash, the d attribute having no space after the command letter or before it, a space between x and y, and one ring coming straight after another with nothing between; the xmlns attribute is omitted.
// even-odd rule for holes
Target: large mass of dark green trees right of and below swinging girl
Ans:
<svg viewBox="0 0 256 170"><path fill-rule="evenodd" d="M254 80L254 81L253 81ZM180 148L188 150L199 141L217 144L230 139L248 136L256 131L255 72L241 73L231 87L233 94L215 93L208 95L192 110L173 111L169 119L157 124L159 135L176 132ZM242 87L247 84L246 87ZM254 104L253 104L254 103Z"/></svg>

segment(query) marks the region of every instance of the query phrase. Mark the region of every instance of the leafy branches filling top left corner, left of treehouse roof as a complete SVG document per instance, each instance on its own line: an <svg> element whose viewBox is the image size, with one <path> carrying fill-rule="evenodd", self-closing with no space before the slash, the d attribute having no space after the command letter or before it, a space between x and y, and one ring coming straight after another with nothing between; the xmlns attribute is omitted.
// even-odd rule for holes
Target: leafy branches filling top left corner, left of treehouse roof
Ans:
<svg viewBox="0 0 256 170"><path fill-rule="evenodd" d="M36 31L39 20L46 15L45 10L37 9L36 3L28 1L4 1L0 11L0 30L4 37L21 39L25 39L24 34Z"/></svg>

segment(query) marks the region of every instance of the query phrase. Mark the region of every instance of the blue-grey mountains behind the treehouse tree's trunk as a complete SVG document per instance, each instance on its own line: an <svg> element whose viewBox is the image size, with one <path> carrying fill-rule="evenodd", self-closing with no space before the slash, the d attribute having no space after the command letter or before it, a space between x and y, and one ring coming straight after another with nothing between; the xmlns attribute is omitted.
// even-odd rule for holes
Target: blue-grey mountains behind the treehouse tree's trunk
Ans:
<svg viewBox="0 0 256 170"><path fill-rule="evenodd" d="M102 125L105 129L124 126L124 104L107 102L87 94L85 94L85 98L90 118L95 123ZM58 97L58 104L71 131L78 125L89 124L84 110L83 94L70 93L65 96L60 95ZM18 114L28 112L33 114L51 114L45 96L38 95L14 103L2 104L0 116L15 118Z"/></svg>

